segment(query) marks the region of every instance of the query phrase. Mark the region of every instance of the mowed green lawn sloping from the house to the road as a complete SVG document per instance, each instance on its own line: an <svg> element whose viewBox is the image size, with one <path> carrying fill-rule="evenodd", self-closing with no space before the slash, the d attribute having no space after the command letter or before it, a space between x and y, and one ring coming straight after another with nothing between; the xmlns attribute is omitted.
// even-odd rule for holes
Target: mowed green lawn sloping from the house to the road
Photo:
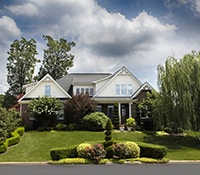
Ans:
<svg viewBox="0 0 200 175"><path fill-rule="evenodd" d="M68 147L83 142L102 143L104 132L87 131L29 131L20 139L18 145L9 147L0 154L0 162L43 162L50 160L50 149ZM166 158L171 160L200 160L200 141L192 137L156 136L141 132L114 132L116 141L135 141L165 145L168 148Z"/></svg>

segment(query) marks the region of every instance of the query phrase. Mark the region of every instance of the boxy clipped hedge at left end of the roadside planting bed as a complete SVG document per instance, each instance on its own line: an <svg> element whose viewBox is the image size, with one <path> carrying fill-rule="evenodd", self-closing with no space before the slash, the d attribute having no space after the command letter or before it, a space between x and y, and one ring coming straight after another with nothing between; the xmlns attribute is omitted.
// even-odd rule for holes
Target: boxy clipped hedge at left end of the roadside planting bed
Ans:
<svg viewBox="0 0 200 175"><path fill-rule="evenodd" d="M52 160L77 157L77 146L51 149L50 156Z"/></svg>

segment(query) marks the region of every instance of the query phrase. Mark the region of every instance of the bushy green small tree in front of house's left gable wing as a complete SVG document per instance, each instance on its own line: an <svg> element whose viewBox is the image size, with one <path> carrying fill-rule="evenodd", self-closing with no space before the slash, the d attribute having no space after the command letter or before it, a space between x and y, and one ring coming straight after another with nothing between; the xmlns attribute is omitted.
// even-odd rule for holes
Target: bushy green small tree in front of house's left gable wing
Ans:
<svg viewBox="0 0 200 175"><path fill-rule="evenodd" d="M34 122L37 128L55 127L57 117L62 114L62 106L60 100L50 97L33 99L28 105L30 115L35 118Z"/></svg>

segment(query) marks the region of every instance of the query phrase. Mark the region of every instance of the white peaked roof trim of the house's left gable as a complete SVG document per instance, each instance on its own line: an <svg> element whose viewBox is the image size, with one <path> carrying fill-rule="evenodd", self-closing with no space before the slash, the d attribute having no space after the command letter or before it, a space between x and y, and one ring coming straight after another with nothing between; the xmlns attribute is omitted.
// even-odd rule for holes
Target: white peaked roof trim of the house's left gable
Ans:
<svg viewBox="0 0 200 175"><path fill-rule="evenodd" d="M43 81L52 81L65 95L67 98L71 98L71 96L49 75L46 74L40 81L37 83L31 83L31 85L34 85L24 96L22 96L18 102L21 102L23 99L25 99L34 89L36 89ZM25 85L28 86L28 85Z"/></svg>

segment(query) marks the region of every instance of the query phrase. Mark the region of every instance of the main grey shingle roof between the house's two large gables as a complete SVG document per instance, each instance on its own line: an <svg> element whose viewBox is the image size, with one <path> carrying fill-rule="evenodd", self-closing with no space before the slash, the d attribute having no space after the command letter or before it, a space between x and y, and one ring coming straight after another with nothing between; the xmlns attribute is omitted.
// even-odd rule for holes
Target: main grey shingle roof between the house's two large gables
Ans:
<svg viewBox="0 0 200 175"><path fill-rule="evenodd" d="M106 78L112 74L110 73L70 73L61 79L57 80L57 83L66 91L69 90L73 84L92 84L94 81Z"/></svg>

